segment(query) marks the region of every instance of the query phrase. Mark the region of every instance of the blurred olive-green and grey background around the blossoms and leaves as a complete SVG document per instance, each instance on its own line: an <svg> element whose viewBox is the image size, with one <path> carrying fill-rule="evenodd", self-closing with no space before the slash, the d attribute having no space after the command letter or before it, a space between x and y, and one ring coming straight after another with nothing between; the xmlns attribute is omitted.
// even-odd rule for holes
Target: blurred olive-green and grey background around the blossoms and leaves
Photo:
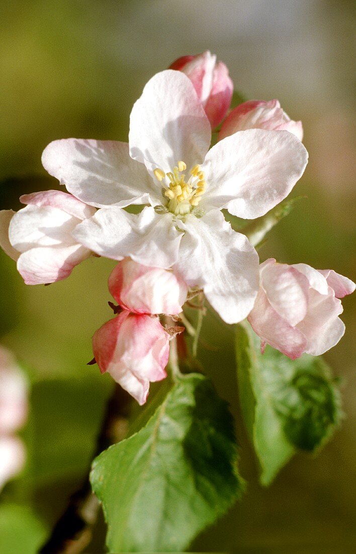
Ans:
<svg viewBox="0 0 356 554"><path fill-rule="evenodd" d="M56 188L41 167L54 139L127 140L146 81L184 54L210 49L248 99L278 98L301 119L310 163L291 196L307 196L260 250L355 280L353 2L332 0L3 0L0 33L0 203ZM0 252L0 342L33 384L23 435L28 464L0 502L1 552L35 552L90 463L111 380L98 375L91 336L109 319L114 263L93 258L69 279L25 286ZM351 552L355 538L356 297L347 331L325 356L344 381L345 420L317 456L296 456L269 489L238 418L232 332L212 319L200 357L237 414L244 499L192 551ZM223 363L221 362L223 361ZM88 552L102 552L102 532Z"/></svg>

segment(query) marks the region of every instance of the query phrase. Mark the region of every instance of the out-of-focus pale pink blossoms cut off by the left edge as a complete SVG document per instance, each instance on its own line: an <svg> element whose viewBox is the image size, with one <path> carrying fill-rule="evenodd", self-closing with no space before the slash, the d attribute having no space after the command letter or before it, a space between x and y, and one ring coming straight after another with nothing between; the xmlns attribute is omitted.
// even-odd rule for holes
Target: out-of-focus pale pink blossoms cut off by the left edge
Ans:
<svg viewBox="0 0 356 554"><path fill-rule="evenodd" d="M11 352L0 347L0 490L22 470L25 448L15 436L27 418L27 382Z"/></svg>

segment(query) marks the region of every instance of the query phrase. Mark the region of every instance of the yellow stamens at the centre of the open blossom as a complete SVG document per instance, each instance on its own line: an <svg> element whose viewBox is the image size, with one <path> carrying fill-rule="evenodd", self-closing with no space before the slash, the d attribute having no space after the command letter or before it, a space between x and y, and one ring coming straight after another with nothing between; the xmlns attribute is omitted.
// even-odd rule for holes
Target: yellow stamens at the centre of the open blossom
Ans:
<svg viewBox="0 0 356 554"><path fill-rule="evenodd" d="M159 167L154 170L156 179L165 186L163 194L167 198L167 208L176 216L190 213L198 205L206 189L205 175L200 166L191 168L187 181L182 173L186 168L186 163L180 161L172 172L165 173Z"/></svg>

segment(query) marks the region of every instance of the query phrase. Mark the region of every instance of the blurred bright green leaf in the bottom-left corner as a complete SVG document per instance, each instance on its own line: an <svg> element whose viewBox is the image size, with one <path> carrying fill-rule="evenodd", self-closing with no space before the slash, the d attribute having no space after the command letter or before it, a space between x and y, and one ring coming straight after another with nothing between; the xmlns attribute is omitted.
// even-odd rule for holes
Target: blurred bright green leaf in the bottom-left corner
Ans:
<svg viewBox="0 0 356 554"><path fill-rule="evenodd" d="M29 506L0 504L1 554L35 554L47 530Z"/></svg>

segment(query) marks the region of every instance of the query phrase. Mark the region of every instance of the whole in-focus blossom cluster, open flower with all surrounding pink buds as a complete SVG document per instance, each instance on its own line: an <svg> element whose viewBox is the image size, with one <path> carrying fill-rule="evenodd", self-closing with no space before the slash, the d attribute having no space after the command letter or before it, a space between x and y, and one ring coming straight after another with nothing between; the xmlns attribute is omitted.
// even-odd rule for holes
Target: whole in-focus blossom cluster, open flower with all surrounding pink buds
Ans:
<svg viewBox="0 0 356 554"><path fill-rule="evenodd" d="M91 255L117 260L109 290L122 311L93 337L95 359L139 403L165 377L169 335L159 314L179 314L199 289L228 324L246 317L262 345L290 358L318 355L344 332L338 315L352 281L331 270L259 264L232 216L264 216L303 175L301 121L278 100L229 112L233 84L210 52L179 58L143 89L129 142L51 142L42 162L68 192L27 194L0 212L0 244L27 284L53 283ZM217 143L210 148L212 131ZM138 214L130 205L143 206Z"/></svg>

